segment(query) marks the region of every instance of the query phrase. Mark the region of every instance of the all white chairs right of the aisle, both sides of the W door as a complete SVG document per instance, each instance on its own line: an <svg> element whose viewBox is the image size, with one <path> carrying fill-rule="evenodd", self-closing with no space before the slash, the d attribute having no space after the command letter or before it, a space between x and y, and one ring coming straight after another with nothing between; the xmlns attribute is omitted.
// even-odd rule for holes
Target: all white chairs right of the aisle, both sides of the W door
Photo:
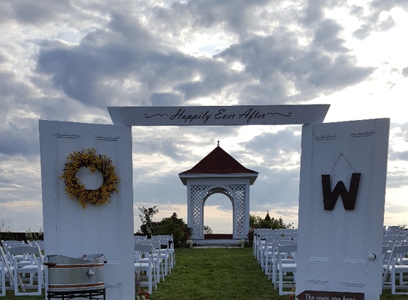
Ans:
<svg viewBox="0 0 408 300"><path fill-rule="evenodd" d="M389 227L382 245L382 289L408 294L408 231ZM295 284L296 233L293 230L254 230L253 255L279 294L291 294ZM290 275L290 276L288 276Z"/></svg>

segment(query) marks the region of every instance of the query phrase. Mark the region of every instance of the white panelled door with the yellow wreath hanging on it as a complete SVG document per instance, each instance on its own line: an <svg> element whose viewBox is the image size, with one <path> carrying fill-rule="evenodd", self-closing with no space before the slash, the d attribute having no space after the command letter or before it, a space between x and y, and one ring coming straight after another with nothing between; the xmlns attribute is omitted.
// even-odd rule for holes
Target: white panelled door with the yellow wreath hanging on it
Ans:
<svg viewBox="0 0 408 300"><path fill-rule="evenodd" d="M43 229L46 255L80 257L104 254L106 299L134 299L132 129L105 124L39 122ZM63 173L73 151L94 148L110 157L120 178L110 203L81 208L66 195ZM102 183L87 169L78 171L81 183Z"/></svg>

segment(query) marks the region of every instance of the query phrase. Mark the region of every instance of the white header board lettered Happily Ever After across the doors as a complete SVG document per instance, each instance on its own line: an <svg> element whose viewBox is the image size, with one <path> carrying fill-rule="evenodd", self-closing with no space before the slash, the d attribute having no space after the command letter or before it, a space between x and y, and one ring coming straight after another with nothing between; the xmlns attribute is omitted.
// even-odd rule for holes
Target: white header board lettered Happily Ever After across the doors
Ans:
<svg viewBox="0 0 408 300"><path fill-rule="evenodd" d="M214 126L314 124L330 105L241 105L197 107L108 107L113 124L128 126Z"/></svg>

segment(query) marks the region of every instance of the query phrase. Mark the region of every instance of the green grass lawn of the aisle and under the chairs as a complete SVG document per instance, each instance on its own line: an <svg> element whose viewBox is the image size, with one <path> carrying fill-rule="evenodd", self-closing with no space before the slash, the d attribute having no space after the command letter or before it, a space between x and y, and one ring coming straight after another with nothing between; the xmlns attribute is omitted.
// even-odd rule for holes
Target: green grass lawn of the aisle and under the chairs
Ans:
<svg viewBox="0 0 408 300"><path fill-rule="evenodd" d="M273 289L252 256L251 248L177 249L176 262L172 274L158 284L157 290L153 289L150 300L289 299ZM44 295L14 296L13 291L7 291L6 297L0 300L44 298ZM408 295L394 296L387 290L380 296L380 300L402 299L408 299Z"/></svg>

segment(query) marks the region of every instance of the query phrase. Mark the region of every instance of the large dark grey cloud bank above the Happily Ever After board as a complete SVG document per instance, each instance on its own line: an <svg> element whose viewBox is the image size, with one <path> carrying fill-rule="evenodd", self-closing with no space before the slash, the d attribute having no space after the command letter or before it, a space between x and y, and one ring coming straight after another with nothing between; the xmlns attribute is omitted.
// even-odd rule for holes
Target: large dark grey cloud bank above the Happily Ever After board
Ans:
<svg viewBox="0 0 408 300"><path fill-rule="evenodd" d="M234 11L244 5L245 13L236 16ZM195 20L197 29L226 23L226 31L243 36L255 26L253 16L260 14L261 4L224 1L216 7L211 10L205 3L204 8L202 1L177 3L150 12L150 17L165 21L189 11L183 20ZM239 27L245 20L249 25ZM299 33L282 27L266 36L235 39L239 43L214 58L202 58L185 55L139 18L111 13L107 28L88 32L78 45L48 43L38 55L37 70L51 75L54 87L68 97L97 107L163 103L159 95L169 95L166 102L173 105L217 94L234 95L241 104L298 102L355 85L372 73L374 68L355 66L340 38L342 26L323 18L315 26L311 45L300 45ZM234 70L237 63L244 69Z"/></svg>

